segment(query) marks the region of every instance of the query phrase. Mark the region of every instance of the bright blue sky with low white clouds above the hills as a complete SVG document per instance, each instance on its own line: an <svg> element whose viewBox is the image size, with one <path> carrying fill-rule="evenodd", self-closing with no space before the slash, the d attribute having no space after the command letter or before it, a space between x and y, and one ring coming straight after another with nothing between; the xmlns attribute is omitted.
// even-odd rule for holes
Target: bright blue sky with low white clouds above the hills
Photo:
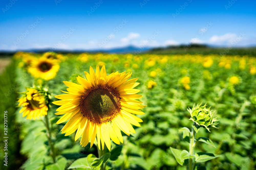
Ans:
<svg viewBox="0 0 256 170"><path fill-rule="evenodd" d="M256 1L2 0L0 7L0 50L256 44Z"/></svg>

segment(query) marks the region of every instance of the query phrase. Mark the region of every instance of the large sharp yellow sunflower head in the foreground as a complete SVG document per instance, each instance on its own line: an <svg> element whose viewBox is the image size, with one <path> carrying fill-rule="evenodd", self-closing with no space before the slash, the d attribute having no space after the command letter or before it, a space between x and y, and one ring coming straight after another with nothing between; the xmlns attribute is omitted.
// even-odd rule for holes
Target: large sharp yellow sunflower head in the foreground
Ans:
<svg viewBox="0 0 256 170"><path fill-rule="evenodd" d="M128 80L132 73L111 73L106 75L105 66L96 72L90 66L90 73L84 72L86 78L77 77L81 84L63 81L69 88L67 94L55 96L59 101L53 103L60 107L56 110L57 115L63 115L56 124L69 120L62 128L65 136L74 133L75 140L80 136L80 145L86 146L91 139L91 147L97 136L99 149L100 143L104 149L104 143L110 150L112 139L116 144L123 143L120 129L126 134L135 133L132 125L140 126L140 118L133 114L144 114L138 109L146 106L143 102L134 100L139 99L140 90L133 89L139 83L138 78Z"/></svg>

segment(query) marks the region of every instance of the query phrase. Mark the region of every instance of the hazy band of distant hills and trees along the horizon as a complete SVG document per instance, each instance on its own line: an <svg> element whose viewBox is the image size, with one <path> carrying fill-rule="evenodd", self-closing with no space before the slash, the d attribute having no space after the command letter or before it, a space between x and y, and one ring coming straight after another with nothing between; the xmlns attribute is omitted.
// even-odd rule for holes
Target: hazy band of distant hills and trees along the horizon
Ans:
<svg viewBox="0 0 256 170"><path fill-rule="evenodd" d="M50 49L30 49L24 50L26 52L45 53ZM8 57L17 51L0 51L1 57ZM116 53L116 54L227 54L227 55L249 55L256 56L256 47L254 45L248 47L237 47L228 49L228 47L217 47L206 44L192 44L191 46L182 44L178 46L167 46L157 48L140 48L136 46L126 46L120 48L104 49L104 50L55 50L56 53Z"/></svg>

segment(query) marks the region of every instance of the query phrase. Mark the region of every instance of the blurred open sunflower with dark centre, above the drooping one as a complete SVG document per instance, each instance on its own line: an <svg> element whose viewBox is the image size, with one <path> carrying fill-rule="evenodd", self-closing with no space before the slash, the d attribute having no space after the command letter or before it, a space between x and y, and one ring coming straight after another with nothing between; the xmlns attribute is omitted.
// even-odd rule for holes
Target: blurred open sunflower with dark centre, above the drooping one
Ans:
<svg viewBox="0 0 256 170"><path fill-rule="evenodd" d="M38 60L33 60L28 72L35 78L42 78L45 80L53 79L59 71L59 64L56 60L41 57Z"/></svg>

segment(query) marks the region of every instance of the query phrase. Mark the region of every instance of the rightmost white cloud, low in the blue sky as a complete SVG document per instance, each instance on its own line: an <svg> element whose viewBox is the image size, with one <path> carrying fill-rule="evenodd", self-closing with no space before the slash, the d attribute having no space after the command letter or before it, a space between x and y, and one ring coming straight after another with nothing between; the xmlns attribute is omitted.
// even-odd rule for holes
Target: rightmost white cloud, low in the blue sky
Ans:
<svg viewBox="0 0 256 170"><path fill-rule="evenodd" d="M227 33L227 34L224 34L221 36L214 35L208 40L208 43L227 44L227 43L231 43L231 41L233 41L236 37L237 37L237 35L233 34L233 33Z"/></svg>

